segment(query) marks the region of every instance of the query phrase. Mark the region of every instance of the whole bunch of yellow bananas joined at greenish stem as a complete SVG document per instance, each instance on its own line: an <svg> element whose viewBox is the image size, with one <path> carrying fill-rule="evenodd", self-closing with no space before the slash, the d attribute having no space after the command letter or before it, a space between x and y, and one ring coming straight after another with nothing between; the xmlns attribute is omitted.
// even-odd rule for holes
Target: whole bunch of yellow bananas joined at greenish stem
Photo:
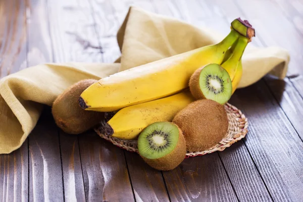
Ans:
<svg viewBox="0 0 303 202"><path fill-rule="evenodd" d="M247 23L234 20L230 33L218 44L100 79L81 94L79 105L100 112L121 109L108 121L104 131L114 137L135 139L151 123L171 121L178 111L194 101L187 89L188 81L201 66L221 64L230 75L234 92L242 76L242 54L255 35Z"/></svg>

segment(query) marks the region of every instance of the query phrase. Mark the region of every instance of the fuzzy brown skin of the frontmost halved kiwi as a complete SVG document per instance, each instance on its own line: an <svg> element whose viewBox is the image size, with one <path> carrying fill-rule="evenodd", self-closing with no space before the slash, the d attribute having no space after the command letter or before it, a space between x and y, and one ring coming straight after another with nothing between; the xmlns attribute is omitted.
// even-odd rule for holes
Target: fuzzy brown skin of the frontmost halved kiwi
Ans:
<svg viewBox="0 0 303 202"><path fill-rule="evenodd" d="M182 131L179 129L179 140L174 150L168 155L161 157L159 159L146 159L142 157L142 159L147 163L150 167L153 167L157 170L168 171L176 168L181 164L186 155L186 142Z"/></svg>

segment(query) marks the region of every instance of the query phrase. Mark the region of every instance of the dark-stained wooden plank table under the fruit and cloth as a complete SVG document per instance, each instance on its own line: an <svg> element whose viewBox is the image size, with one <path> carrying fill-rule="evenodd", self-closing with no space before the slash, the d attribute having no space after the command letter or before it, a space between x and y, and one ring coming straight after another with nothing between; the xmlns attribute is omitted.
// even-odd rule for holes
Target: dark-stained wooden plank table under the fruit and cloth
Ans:
<svg viewBox="0 0 303 202"><path fill-rule="evenodd" d="M252 44L289 50L287 78L237 90L230 103L249 119L244 140L169 172L92 131L65 134L45 108L22 147L0 155L0 200L303 201L302 0L1 0L0 77L45 62L113 62L130 5L222 34L248 19Z"/></svg>

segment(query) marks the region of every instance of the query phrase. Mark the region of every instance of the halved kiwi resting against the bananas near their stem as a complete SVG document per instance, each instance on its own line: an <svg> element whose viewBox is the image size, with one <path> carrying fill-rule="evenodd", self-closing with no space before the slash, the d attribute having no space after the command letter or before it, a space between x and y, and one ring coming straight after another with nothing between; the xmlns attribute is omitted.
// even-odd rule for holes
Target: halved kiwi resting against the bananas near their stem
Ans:
<svg viewBox="0 0 303 202"><path fill-rule="evenodd" d="M212 99L221 105L232 95L232 83L227 71L218 64L197 69L190 77L189 88L196 99Z"/></svg>

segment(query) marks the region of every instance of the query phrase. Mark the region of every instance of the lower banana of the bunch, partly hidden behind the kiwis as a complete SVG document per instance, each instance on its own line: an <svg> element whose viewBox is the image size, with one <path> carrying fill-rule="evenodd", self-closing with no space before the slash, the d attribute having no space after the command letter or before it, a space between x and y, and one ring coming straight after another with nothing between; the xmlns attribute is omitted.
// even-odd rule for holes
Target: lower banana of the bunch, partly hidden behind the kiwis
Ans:
<svg viewBox="0 0 303 202"><path fill-rule="evenodd" d="M121 139L135 139L148 125L158 121L172 121L174 116L194 101L189 90L169 97L123 108L104 126L107 135Z"/></svg>

